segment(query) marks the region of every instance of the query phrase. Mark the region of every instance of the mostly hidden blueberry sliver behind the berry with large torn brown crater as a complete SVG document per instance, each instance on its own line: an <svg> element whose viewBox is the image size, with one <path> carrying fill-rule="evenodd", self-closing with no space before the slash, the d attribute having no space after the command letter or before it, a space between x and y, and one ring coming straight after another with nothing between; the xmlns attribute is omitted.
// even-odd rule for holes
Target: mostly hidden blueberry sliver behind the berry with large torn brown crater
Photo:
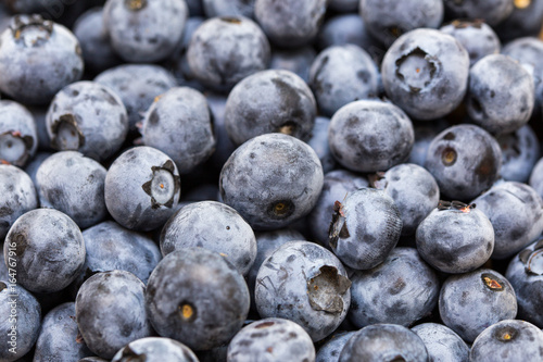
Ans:
<svg viewBox="0 0 543 362"><path fill-rule="evenodd" d="M254 288L256 286L256 275L258 274L258 270L272 253L289 241L296 240L305 240L304 236L291 228L281 228L274 232L260 232L255 233L256 237L256 257L254 259L254 263L247 273L247 285L249 287L249 291L251 294L251 309L256 311L256 304L254 301ZM0 275L1 277L1 275Z"/></svg>

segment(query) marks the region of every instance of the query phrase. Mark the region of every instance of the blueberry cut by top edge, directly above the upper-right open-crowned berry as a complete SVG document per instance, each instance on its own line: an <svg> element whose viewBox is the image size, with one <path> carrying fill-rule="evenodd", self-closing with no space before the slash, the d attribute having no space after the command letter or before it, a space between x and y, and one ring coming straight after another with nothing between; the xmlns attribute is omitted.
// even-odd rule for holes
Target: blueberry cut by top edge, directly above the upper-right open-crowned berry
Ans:
<svg viewBox="0 0 543 362"><path fill-rule="evenodd" d="M401 35L416 28L437 28L443 20L440 0L361 0L358 8L368 32L390 47Z"/></svg>

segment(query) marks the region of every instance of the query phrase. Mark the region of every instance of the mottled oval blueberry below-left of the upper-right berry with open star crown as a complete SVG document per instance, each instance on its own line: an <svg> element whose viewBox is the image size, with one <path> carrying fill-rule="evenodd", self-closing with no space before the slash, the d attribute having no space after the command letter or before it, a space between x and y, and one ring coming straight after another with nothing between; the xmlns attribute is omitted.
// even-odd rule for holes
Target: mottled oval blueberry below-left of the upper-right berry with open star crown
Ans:
<svg viewBox="0 0 543 362"><path fill-rule="evenodd" d="M392 103L361 100L336 112L328 142L336 160L357 172L386 171L409 157L415 139L407 115Z"/></svg>

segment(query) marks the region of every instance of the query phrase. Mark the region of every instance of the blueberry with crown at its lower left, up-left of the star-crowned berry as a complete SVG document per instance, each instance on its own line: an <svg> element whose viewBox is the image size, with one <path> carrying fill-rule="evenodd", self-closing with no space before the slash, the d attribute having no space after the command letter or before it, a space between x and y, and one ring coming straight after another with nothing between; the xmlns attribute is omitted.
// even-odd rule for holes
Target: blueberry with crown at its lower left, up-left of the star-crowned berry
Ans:
<svg viewBox="0 0 543 362"><path fill-rule="evenodd" d="M115 153L128 133L123 101L96 82L71 84L54 96L46 116L51 145L97 161Z"/></svg>

